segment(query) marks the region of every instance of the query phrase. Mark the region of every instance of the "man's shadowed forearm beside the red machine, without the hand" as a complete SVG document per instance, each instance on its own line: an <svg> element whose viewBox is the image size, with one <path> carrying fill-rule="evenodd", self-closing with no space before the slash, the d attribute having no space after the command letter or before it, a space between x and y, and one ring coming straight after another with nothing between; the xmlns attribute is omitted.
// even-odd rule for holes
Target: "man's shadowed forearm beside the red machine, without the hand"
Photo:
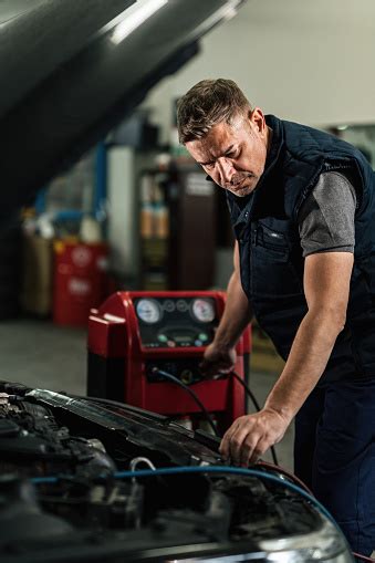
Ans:
<svg viewBox="0 0 375 563"><path fill-rule="evenodd" d="M233 347L251 316L251 306L242 290L240 275L235 271L228 284L226 309L215 336L216 344L222 348Z"/></svg>

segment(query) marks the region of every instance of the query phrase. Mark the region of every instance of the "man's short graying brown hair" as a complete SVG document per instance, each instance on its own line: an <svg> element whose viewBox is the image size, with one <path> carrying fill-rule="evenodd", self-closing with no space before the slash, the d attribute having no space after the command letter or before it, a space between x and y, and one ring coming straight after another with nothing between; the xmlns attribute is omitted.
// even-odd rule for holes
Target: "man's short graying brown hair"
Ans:
<svg viewBox="0 0 375 563"><path fill-rule="evenodd" d="M236 82L226 79L202 80L177 104L179 142L205 137L213 125L232 123L239 114L251 111L250 102Z"/></svg>

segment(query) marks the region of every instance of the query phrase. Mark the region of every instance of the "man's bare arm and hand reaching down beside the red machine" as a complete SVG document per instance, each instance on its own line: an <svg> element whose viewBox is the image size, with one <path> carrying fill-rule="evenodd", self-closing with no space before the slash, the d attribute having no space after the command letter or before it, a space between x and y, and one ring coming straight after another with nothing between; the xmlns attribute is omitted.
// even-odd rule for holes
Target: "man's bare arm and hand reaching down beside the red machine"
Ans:
<svg viewBox="0 0 375 563"><path fill-rule="evenodd" d="M233 252L233 273L227 288L225 312L216 332L215 340L207 346L200 366L201 372L206 375L228 372L233 367L236 362L235 346L243 330L251 321L251 306L241 285L237 241Z"/></svg>

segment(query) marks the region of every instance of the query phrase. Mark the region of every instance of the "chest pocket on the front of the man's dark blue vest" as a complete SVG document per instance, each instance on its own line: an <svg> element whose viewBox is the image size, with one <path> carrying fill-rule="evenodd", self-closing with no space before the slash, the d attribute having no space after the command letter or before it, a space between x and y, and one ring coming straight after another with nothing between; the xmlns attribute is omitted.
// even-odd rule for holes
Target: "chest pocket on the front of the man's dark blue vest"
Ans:
<svg viewBox="0 0 375 563"><path fill-rule="evenodd" d="M301 295L303 282L294 264L298 247L293 237L262 223L252 234L250 286L253 296L277 302L278 299Z"/></svg>

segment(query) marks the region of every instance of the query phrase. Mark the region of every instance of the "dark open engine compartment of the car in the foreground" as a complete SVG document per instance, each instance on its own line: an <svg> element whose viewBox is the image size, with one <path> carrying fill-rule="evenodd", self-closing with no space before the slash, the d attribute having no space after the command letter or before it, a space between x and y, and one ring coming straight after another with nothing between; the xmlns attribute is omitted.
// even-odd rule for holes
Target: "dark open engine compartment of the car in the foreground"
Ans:
<svg viewBox="0 0 375 563"><path fill-rule="evenodd" d="M281 484L205 473L223 465L205 432L105 399L12 384L0 393L2 561L166 561L192 546L263 561L260 542L322 528ZM202 472L135 475L179 466Z"/></svg>

